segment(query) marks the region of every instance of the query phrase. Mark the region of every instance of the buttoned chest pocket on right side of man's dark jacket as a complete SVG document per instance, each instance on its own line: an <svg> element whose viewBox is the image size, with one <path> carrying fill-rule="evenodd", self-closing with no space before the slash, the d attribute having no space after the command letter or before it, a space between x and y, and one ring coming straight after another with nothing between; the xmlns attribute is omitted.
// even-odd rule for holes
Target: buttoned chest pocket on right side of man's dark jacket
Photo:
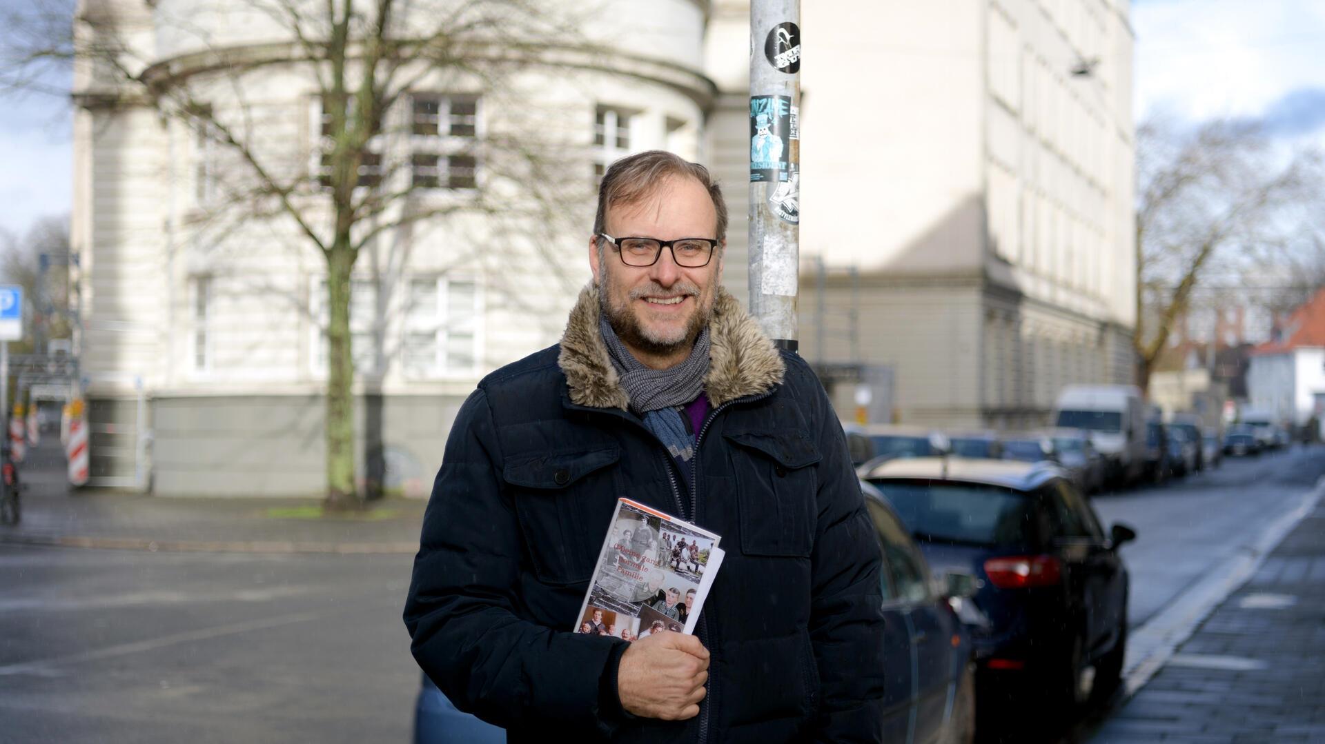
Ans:
<svg viewBox="0 0 1325 744"><path fill-rule="evenodd" d="M808 557L816 523L819 447L803 432L725 432L741 510L741 551Z"/></svg>

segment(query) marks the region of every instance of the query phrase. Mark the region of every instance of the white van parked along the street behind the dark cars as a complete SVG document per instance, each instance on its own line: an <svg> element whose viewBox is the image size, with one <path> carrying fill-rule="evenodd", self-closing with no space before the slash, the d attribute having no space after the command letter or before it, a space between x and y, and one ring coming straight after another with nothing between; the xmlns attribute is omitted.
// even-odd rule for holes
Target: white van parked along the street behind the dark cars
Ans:
<svg viewBox="0 0 1325 744"><path fill-rule="evenodd" d="M1126 486L1146 463L1146 406L1136 385L1068 385L1059 393L1055 426L1085 429L1105 457L1105 481Z"/></svg>

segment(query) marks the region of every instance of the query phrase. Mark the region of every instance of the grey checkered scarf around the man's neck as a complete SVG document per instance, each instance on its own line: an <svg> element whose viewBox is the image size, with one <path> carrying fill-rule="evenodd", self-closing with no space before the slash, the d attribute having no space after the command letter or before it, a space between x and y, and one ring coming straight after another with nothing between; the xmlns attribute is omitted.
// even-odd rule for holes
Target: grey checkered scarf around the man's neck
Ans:
<svg viewBox="0 0 1325 744"><path fill-rule="evenodd" d="M599 316L598 327L612 367L631 398L631 412L644 418L644 425L672 457L689 461L694 455L694 437L685 425L681 406L704 395L704 377L709 373L709 330L700 331L685 361L670 369L651 369L625 348L607 318Z"/></svg>

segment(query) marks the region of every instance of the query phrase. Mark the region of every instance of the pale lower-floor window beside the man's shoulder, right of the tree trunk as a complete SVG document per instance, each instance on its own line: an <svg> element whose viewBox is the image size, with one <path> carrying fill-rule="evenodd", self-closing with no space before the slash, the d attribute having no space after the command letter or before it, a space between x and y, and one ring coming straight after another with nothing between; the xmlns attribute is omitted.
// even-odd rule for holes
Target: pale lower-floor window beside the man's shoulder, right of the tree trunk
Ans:
<svg viewBox="0 0 1325 744"><path fill-rule="evenodd" d="M478 285L472 279L409 282L401 361L409 377L473 375L478 365Z"/></svg>

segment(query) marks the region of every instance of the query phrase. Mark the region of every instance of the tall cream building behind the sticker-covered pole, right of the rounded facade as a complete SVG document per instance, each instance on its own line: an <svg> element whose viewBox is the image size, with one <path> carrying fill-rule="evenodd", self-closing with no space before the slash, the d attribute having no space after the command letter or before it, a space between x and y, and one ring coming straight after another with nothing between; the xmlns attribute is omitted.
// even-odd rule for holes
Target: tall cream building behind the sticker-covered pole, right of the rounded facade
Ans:
<svg viewBox="0 0 1325 744"><path fill-rule="evenodd" d="M749 150L747 3L714 7L710 139L734 185ZM1067 384L1133 381L1128 12L1126 0L802 4L803 356L892 367L897 416L934 425L1039 425ZM729 261L729 283L739 267ZM833 400L851 410L851 385Z"/></svg>

